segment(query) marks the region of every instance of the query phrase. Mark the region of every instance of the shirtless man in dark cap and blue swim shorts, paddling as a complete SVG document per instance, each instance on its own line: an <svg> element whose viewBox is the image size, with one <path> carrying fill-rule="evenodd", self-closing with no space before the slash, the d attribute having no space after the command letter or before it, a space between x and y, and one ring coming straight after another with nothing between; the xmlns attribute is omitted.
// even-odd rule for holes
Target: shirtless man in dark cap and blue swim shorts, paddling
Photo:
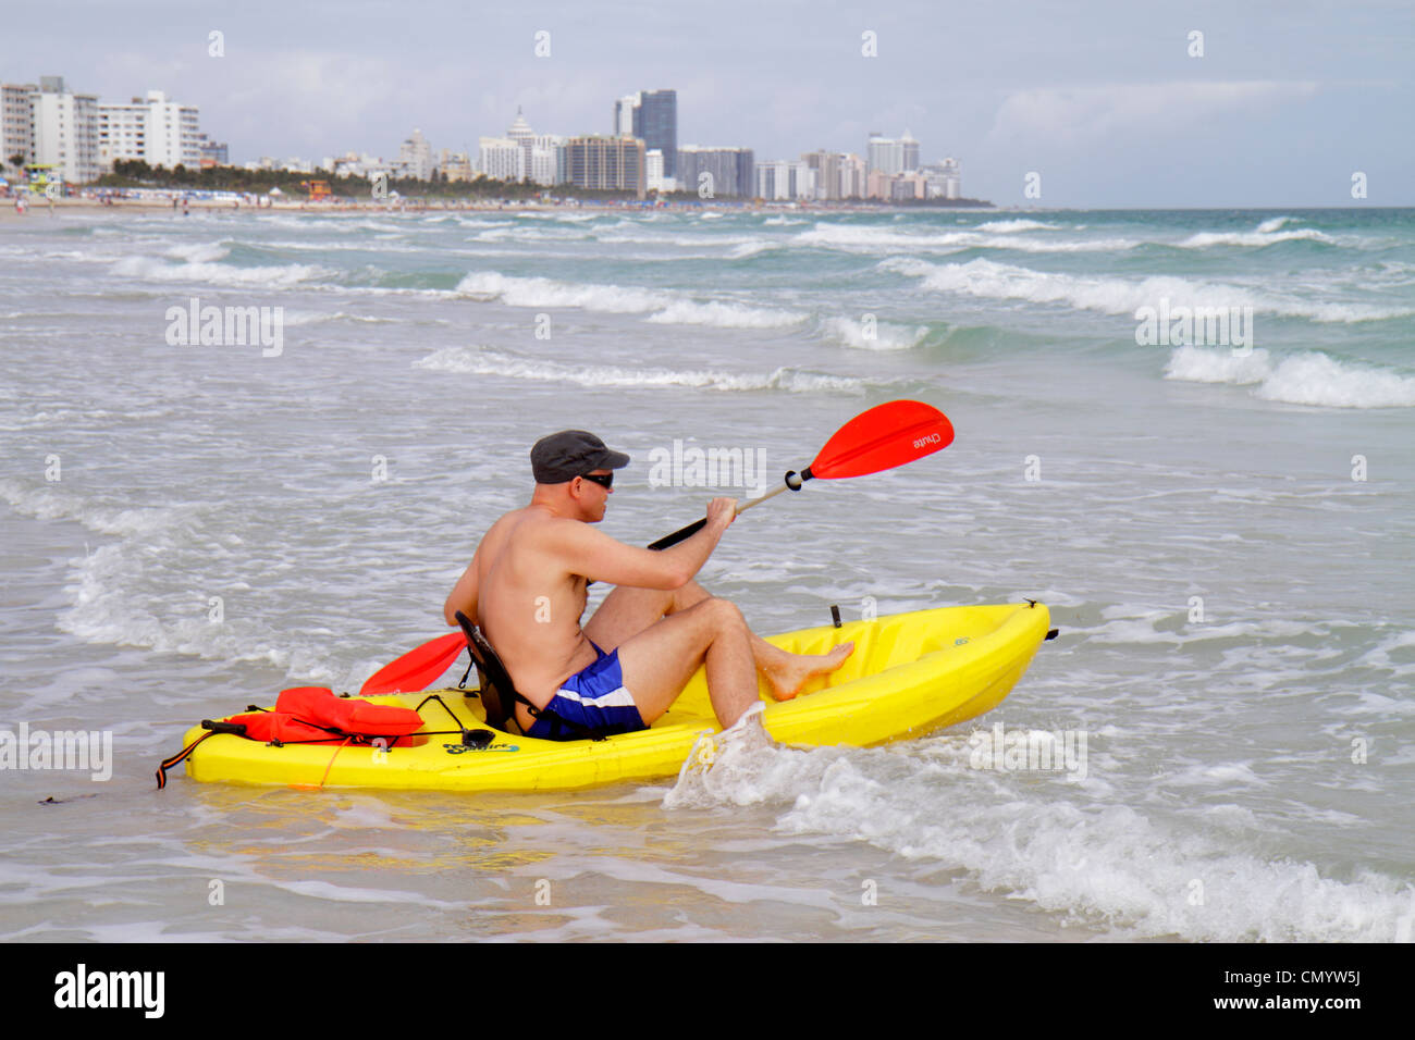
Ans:
<svg viewBox="0 0 1415 1040"><path fill-rule="evenodd" d="M758 671L773 696L788 700L845 664L853 642L788 654L692 580L736 518L736 499L712 499L706 526L662 552L590 526L604 519L624 466L628 456L584 430L538 440L531 504L491 525L443 607L450 625L458 610L481 625L526 699L582 727L630 733L666 712L706 662L713 710L729 727L757 702ZM589 582L617 587L582 628ZM516 720L529 737L558 737L525 705Z"/></svg>

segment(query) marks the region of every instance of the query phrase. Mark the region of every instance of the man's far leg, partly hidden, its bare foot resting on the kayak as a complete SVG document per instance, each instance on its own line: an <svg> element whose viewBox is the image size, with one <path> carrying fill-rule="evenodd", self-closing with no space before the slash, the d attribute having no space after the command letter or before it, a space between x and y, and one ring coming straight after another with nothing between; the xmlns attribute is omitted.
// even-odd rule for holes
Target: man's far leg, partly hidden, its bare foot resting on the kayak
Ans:
<svg viewBox="0 0 1415 1040"><path fill-rule="evenodd" d="M698 582L689 582L674 590L617 586L584 625L584 634L608 654L657 621L710 599L713 596ZM846 642L829 654L790 654L767 642L750 628L747 635L751 658L767 682L771 683L771 696L777 700L790 700L805 685L807 679L839 668L855 648L853 642ZM689 672L691 675L692 672ZM686 683L688 679L683 682Z"/></svg>

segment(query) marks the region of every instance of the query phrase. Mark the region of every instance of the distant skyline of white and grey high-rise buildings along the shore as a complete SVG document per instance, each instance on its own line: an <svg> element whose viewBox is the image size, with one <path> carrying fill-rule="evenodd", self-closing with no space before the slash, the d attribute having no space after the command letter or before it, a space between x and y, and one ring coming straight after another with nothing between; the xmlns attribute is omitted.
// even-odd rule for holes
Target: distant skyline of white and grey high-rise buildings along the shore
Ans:
<svg viewBox="0 0 1415 1040"><path fill-rule="evenodd" d="M61 75L37 82L3 82L4 134L0 157L57 168L71 184L91 184L115 171L119 161L151 167L202 168L226 166L228 144L200 130L200 106L183 105L164 91L149 89L130 102L105 100L75 91ZM700 198L764 198L802 202L842 200L958 200L961 167L955 157L924 163L921 143L906 129L887 139L872 132L866 157L819 149L799 158L756 161L751 149L676 144L678 96L674 89L638 91L614 100L610 134L536 133L521 106L505 136L478 136L477 158L450 149L434 157L430 141L415 127L396 160L361 153L275 157L236 163L246 170L323 173L334 177L391 175L426 181L434 175L466 181L474 175L535 183L574 184L589 190L645 192L696 191ZM678 167L688 168L679 174Z"/></svg>

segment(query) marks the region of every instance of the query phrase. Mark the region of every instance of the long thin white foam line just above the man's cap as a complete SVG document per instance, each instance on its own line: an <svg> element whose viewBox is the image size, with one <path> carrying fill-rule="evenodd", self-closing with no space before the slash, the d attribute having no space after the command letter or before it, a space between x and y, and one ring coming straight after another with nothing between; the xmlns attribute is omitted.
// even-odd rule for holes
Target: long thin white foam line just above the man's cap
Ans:
<svg viewBox="0 0 1415 1040"><path fill-rule="evenodd" d="M709 369L623 368L618 365L566 365L559 361L519 358L485 348L444 347L413 362L415 368L468 375L498 375L580 386L686 386L706 391L785 391L788 393L863 393L880 381L777 368L768 374L733 374Z"/></svg>

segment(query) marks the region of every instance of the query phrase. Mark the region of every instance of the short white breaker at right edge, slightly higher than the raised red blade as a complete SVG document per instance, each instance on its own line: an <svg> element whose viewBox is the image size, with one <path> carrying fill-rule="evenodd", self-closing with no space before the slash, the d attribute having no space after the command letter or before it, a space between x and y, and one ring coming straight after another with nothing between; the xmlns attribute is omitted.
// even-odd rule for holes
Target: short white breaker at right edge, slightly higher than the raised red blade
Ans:
<svg viewBox="0 0 1415 1040"><path fill-rule="evenodd" d="M1288 405L1322 408L1412 408L1415 376L1365 365L1350 365L1316 351L1274 362L1259 348L1248 357L1203 347L1177 348L1165 366L1166 379L1252 385L1252 396Z"/></svg>

